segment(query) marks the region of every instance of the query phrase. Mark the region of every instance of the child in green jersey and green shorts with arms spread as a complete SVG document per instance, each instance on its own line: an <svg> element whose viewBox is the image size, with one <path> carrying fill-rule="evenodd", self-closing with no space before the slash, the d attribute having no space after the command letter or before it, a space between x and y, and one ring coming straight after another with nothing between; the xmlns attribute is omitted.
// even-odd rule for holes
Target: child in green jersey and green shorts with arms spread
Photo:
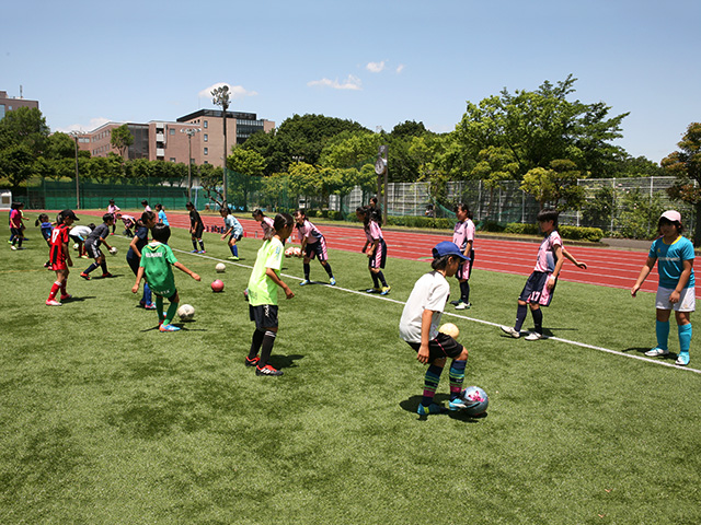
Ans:
<svg viewBox="0 0 701 525"><path fill-rule="evenodd" d="M175 288L175 276L173 276L173 266L184 271L189 277L199 281L200 278L194 271L187 269L183 264L179 262L173 250L168 245L171 237L171 229L165 224L156 224L151 229L153 241L141 250L141 261L139 270L136 275L136 284L131 288L131 292L139 291L141 279L146 278L151 292L156 294L156 311L158 312L159 330L160 331L177 331L180 327L171 325L171 322L177 313L180 304L180 295ZM170 301L168 312L163 315L163 298Z"/></svg>

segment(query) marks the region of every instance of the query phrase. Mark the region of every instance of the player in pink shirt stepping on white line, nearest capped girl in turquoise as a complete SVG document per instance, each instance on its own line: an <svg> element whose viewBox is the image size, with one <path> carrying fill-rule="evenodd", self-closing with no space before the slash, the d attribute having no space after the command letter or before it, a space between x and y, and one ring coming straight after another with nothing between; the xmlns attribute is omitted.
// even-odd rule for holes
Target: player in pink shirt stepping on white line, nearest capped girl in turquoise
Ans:
<svg viewBox="0 0 701 525"><path fill-rule="evenodd" d="M533 316L536 325L535 331L526 336L527 341L537 341L543 338L543 313L541 306L549 306L558 284L558 276L564 262L564 257L568 258L578 268L586 269L587 265L578 262L570 253L562 247L562 238L558 233L558 217L555 210L542 210L538 213L538 225L545 238L538 249L538 259L532 273L526 281L526 285L518 298L518 308L516 310L516 324L514 327L502 326L502 330L514 339L520 337L520 329L526 320L528 307ZM563 257L564 256L564 257Z"/></svg>

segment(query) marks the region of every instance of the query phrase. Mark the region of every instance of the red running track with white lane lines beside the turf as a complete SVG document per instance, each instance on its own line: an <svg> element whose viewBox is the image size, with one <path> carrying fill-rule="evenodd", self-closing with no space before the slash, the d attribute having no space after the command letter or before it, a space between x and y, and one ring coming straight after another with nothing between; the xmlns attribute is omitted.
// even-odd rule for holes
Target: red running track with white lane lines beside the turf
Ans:
<svg viewBox="0 0 701 525"><path fill-rule="evenodd" d="M103 212L81 210L78 215L80 217L80 214L101 217ZM219 228L223 225L221 218L210 215L202 217L205 225L208 228ZM189 228L189 218L186 213L169 212L168 220L174 228ZM239 221L243 226L246 237L262 237L263 230L260 223L253 219L239 219ZM324 234L326 245L331 249L359 253L365 244L365 235L358 226L322 224L319 226L319 230ZM388 255L390 257L410 260L428 260L430 258L432 247L440 241L449 241L451 235L451 232L443 234L390 230L383 232L384 241L388 245ZM294 243L298 242L295 233L290 241ZM474 244L474 269L516 273L520 276L528 276L533 270L536 255L538 254L537 243L478 237ZM565 259L560 279L601 287L630 290L635 283L640 269L647 258L646 252L629 252L588 246L568 247L566 241L565 247L567 247L567 250L577 260L586 262L587 269L582 270ZM701 283L697 284L697 294L700 287ZM657 290L656 267L647 277L642 290L646 292L655 292Z"/></svg>

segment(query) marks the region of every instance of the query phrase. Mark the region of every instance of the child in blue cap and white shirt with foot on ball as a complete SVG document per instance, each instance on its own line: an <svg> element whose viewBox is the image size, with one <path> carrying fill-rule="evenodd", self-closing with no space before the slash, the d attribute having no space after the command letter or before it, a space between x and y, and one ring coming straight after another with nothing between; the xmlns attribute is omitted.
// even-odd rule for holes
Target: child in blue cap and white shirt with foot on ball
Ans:
<svg viewBox="0 0 701 525"><path fill-rule="evenodd" d="M460 398L464 368L468 362L468 350L452 337L438 331L440 316L450 296L450 284L447 277L452 277L467 260L460 248L449 241L438 243L433 249L433 271L425 273L416 281L412 290L402 318L399 334L417 353L422 364L428 364L424 376L424 393L417 412L421 416L440 413L444 408L434 402L434 396L440 382L440 374L450 363L450 410L466 408Z"/></svg>

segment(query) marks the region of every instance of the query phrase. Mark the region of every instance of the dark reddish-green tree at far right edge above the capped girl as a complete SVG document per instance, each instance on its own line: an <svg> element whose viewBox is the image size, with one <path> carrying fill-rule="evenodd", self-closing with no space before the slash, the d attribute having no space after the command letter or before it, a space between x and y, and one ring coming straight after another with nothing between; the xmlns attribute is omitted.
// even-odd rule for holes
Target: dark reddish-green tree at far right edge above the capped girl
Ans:
<svg viewBox="0 0 701 525"><path fill-rule="evenodd" d="M677 143L679 151L662 160L662 166L676 177L667 190L673 199L693 205L697 220L693 245L701 245L701 122L691 122Z"/></svg>

